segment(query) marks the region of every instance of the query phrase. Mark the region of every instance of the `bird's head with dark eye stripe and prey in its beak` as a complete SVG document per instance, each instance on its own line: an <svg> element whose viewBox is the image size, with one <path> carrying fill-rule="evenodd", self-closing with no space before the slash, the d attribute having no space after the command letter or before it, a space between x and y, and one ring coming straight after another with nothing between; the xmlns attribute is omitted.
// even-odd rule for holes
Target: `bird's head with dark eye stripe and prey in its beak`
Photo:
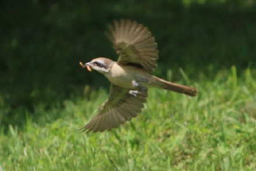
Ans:
<svg viewBox="0 0 256 171"><path fill-rule="evenodd" d="M108 73L109 70L111 69L112 65L113 65L113 60L108 59L108 58L95 58L93 60L91 60L91 62L87 62L87 63L81 63L80 62L81 67L87 67L87 69L89 71L91 71L91 69L93 70L97 70L97 72L105 74Z"/></svg>

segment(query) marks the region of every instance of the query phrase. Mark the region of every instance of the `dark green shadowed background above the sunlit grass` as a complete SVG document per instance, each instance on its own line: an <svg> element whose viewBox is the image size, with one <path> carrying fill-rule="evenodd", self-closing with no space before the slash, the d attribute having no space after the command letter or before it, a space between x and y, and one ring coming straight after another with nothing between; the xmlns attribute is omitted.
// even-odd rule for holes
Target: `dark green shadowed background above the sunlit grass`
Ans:
<svg viewBox="0 0 256 171"><path fill-rule="evenodd" d="M35 108L61 107L65 99L89 98L109 83L79 62L117 59L104 35L113 19L147 26L158 42L157 76L180 68L193 80L211 79L256 60L256 1L1 1L0 126L37 119ZM91 87L93 85L93 87ZM61 113L56 114L56 118Z"/></svg>

